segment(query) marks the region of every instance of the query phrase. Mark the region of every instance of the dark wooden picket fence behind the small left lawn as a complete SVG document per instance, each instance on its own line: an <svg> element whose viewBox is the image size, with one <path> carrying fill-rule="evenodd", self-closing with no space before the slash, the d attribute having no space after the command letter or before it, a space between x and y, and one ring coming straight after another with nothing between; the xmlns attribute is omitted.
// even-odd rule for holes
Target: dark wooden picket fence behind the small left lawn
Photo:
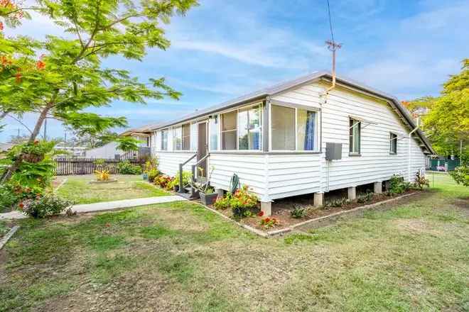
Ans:
<svg viewBox="0 0 469 312"><path fill-rule="evenodd" d="M55 159L55 175L93 174L97 169L96 158L57 158ZM143 160L127 160L132 165L142 165ZM109 173L117 174L117 164L122 160L104 160Z"/></svg>

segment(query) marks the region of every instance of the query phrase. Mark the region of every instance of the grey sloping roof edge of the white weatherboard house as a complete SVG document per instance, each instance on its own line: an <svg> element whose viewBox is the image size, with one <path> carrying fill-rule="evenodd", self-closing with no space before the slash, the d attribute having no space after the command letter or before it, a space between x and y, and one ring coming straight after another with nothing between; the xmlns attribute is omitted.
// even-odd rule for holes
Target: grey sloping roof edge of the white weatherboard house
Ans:
<svg viewBox="0 0 469 312"><path fill-rule="evenodd" d="M236 107L239 105L242 105L244 103L250 102L250 101L256 101L260 99L265 99L267 96L274 96L275 94L279 94L280 92L297 88L300 87L303 84L308 84L310 82L316 81L318 79L326 79L326 80L331 80L332 79L332 74L327 71L327 70L322 70L318 72L313 72L311 74L307 74L302 77L298 77L296 79L287 81L287 82L282 82L280 84L275 84L274 86L271 87L266 87L264 89L260 89L258 91L254 91L249 94L244 94L243 96L239 96L236 99L232 99L230 101L223 102L221 104L217 104L215 106L210 106L208 108L204 108L201 110L197 110L193 113L190 113L188 115L182 116L180 118L177 118L173 121L168 121L168 122L163 122L163 123L157 123L153 125L148 125L140 128L135 128L131 130L127 130L125 133L122 133L122 135L130 135L131 133L144 133L144 132L150 132L153 130L158 130L161 128L166 128L168 126L173 126L177 123L183 123L185 121L190 121L195 118L200 118L202 116L209 115L211 113L217 113L218 111L223 111L228 108ZM401 102L395 97L392 96L391 94L387 94L384 91L380 91L378 89L374 89L370 86L367 86L366 84L362 84L360 82L356 82L355 80L348 79L342 76L336 76L336 82L338 84L343 84L347 87L352 87L354 89L358 89L360 91L365 91L367 94L371 94L374 96L379 96L381 98L387 99L392 106L394 106L394 111L398 113L399 116L401 116L402 121L406 123L410 128L414 129L416 128L416 124L414 123L414 119L411 117L409 111L401 104ZM433 147L431 147L430 142L424 135L424 133L418 129L416 130L416 135L421 139L422 143L424 143L424 146L426 149L431 152L431 154L436 154L435 151L433 150Z"/></svg>

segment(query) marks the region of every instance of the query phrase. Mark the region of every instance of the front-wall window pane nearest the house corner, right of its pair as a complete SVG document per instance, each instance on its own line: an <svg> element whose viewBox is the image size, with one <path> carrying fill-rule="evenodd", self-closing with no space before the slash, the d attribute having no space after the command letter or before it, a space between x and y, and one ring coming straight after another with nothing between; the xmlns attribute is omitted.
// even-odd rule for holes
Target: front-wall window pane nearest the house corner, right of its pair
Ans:
<svg viewBox="0 0 469 312"><path fill-rule="evenodd" d="M260 150L262 141L261 106L238 111L238 149Z"/></svg>

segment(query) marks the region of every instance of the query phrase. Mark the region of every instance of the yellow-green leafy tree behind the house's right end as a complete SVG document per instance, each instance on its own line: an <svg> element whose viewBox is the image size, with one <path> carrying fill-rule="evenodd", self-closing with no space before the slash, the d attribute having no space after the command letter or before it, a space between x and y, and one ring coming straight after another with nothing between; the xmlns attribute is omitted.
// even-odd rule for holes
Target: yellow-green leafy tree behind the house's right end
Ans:
<svg viewBox="0 0 469 312"><path fill-rule="evenodd" d="M469 155L469 59L459 74L443 84L441 96L409 102L409 108L426 107L424 131L439 154L457 154L463 143L463 157Z"/></svg>

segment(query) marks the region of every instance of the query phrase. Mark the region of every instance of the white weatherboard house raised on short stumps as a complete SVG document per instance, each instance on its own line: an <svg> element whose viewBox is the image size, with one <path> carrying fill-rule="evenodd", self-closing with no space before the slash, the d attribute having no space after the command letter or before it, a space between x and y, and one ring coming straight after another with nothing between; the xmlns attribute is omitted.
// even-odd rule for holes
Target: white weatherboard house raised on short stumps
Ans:
<svg viewBox="0 0 469 312"><path fill-rule="evenodd" d="M161 172L175 176L179 164L190 159L190 170L201 160L198 176L213 168L210 184L223 190L237 174L268 215L276 199L314 194L320 205L335 189L348 188L352 199L362 184L381 192L393 174L413 181L434 152L406 108L382 91L336 81L330 89L330 72L315 72L134 132L151 135Z"/></svg>

